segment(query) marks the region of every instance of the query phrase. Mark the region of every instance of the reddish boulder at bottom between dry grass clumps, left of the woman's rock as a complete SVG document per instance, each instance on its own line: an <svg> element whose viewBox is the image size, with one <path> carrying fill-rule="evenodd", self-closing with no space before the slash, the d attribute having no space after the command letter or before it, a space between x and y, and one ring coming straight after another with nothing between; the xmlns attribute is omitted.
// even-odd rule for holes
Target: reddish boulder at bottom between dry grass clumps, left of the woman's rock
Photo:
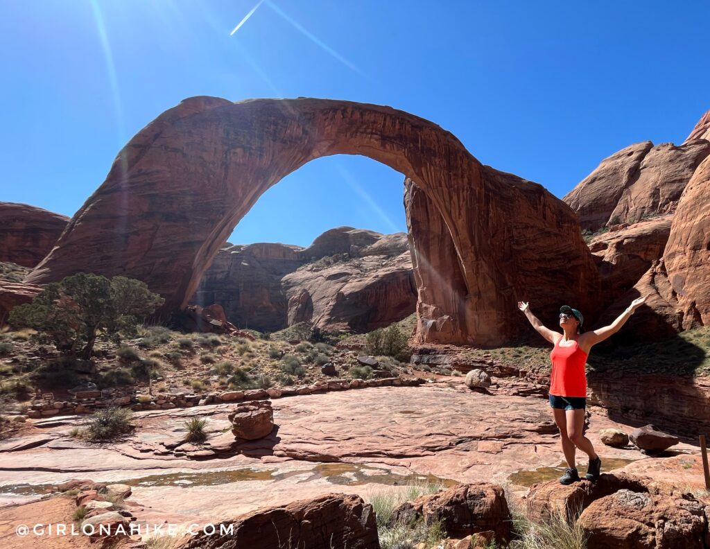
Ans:
<svg viewBox="0 0 710 549"><path fill-rule="evenodd" d="M493 531L497 543L510 540L508 502L503 488L497 484L457 484L437 494L407 501L394 509L390 526L413 523L420 518L427 525L440 522L452 538Z"/></svg>

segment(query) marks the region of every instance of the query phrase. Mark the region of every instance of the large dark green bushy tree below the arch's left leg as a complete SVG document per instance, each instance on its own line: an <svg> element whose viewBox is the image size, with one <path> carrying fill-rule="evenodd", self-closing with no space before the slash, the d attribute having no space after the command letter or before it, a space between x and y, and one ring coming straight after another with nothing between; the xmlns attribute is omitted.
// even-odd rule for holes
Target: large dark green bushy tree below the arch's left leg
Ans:
<svg viewBox="0 0 710 549"><path fill-rule="evenodd" d="M32 303L13 308L9 322L49 335L68 356L89 359L99 332L134 333L164 301L132 278L77 273L48 284Z"/></svg>

